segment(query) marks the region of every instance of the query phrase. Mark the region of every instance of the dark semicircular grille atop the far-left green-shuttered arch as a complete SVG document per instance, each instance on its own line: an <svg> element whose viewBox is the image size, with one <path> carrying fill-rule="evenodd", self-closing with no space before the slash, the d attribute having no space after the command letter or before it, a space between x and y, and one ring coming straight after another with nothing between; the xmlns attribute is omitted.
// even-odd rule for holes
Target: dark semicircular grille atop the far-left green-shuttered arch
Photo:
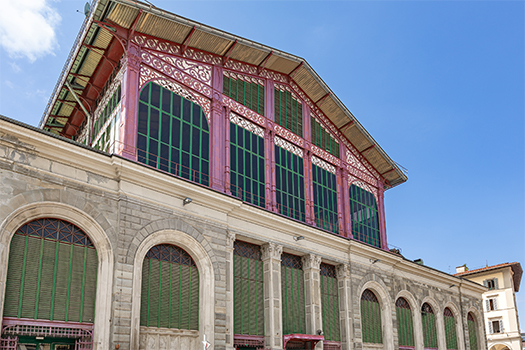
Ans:
<svg viewBox="0 0 525 350"><path fill-rule="evenodd" d="M20 227L16 234L94 248L93 243L82 230L60 219L33 220Z"/></svg>

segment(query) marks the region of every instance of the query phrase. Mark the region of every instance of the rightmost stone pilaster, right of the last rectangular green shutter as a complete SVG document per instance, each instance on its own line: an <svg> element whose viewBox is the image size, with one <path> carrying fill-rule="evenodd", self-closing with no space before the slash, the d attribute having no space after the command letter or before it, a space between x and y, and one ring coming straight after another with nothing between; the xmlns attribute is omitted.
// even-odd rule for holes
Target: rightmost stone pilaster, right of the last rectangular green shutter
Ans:
<svg viewBox="0 0 525 350"><path fill-rule="evenodd" d="M352 349L352 288L350 268L346 264L336 267L337 284L339 285L339 326L341 327L341 349Z"/></svg>

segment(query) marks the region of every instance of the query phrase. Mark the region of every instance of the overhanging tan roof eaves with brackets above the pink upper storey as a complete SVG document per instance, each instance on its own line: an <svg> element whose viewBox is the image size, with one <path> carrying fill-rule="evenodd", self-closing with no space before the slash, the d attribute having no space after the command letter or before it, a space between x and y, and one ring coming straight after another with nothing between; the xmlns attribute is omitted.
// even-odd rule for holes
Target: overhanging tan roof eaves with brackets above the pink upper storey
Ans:
<svg viewBox="0 0 525 350"><path fill-rule="evenodd" d="M68 106L74 103L74 99L64 83L68 80L82 85L82 81L78 80L80 74L85 76L86 80L89 79L84 83L86 89L93 90L90 84L100 65L100 60L105 59L104 55L108 56L110 45L115 45L112 44L114 40L110 31L103 29L102 22L288 76L289 80L297 85L313 101L315 107L330 120L335 129L348 139L357 152L361 153L365 161L385 180L388 188L407 181L406 170L386 154L303 58L134 0L94 0L91 14L86 18L41 120L41 128L65 136L74 132L74 128L70 125L76 125L75 120L71 120L71 116L73 112L76 115L81 113L74 111L74 107ZM86 45L91 45L91 48ZM93 53L97 51L96 48L100 50ZM81 73L78 73L79 71ZM94 92L91 94L95 95ZM64 100L67 102L61 102ZM63 113L58 113L61 109ZM69 129L64 131L66 127Z"/></svg>

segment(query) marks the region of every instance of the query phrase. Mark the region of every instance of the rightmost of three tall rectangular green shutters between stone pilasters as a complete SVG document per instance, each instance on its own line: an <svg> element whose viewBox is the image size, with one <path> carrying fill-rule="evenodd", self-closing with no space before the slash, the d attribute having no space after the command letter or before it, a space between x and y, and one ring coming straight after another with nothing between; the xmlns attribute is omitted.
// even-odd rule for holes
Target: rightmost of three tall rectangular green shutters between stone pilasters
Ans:
<svg viewBox="0 0 525 350"><path fill-rule="evenodd" d="M325 340L341 341L339 322L339 285L335 266L321 264L321 303Z"/></svg>

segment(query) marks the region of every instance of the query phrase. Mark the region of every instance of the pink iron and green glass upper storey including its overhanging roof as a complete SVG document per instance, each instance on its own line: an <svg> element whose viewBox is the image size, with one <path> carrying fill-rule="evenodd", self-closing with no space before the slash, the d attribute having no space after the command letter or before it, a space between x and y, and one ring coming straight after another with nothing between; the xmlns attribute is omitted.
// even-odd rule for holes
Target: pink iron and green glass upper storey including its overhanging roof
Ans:
<svg viewBox="0 0 525 350"><path fill-rule="evenodd" d="M93 15L42 128L387 249L383 194L406 176L304 60L136 32L122 6Z"/></svg>

